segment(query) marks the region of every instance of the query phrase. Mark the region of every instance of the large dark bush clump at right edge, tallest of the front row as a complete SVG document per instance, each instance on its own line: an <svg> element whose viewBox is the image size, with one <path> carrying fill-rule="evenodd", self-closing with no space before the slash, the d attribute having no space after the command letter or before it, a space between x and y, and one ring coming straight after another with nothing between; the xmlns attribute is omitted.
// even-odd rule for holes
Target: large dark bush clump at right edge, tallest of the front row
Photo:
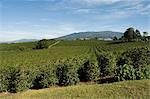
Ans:
<svg viewBox="0 0 150 99"><path fill-rule="evenodd" d="M150 49L135 48L121 54L117 61L119 80L150 78ZM134 71L134 72L133 72Z"/></svg>

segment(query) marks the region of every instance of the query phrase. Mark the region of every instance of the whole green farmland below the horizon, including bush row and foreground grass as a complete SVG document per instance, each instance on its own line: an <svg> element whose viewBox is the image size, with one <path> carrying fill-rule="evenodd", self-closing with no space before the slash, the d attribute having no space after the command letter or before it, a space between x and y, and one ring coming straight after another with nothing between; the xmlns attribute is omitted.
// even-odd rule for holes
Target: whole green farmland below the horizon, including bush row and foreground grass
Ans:
<svg viewBox="0 0 150 99"><path fill-rule="evenodd" d="M0 98L149 98L150 80L147 79L149 78L149 72L147 72L149 42L50 40L47 49L35 49L36 43L0 44ZM141 56L138 56L137 62L144 64L145 67L133 69L125 63L122 65L123 69L120 69L121 72L118 71L120 65L117 64L123 55L127 55L123 56L127 59L126 61L131 57L129 64L135 65L136 62L132 60L134 54L128 52L134 48L143 48L132 52L135 51L134 53L139 55L138 53L143 51ZM144 52L145 49L147 52ZM126 53L122 54L123 52ZM133 72L134 77L132 77ZM133 81L98 84L108 83L110 79L110 82L114 82L116 77L122 77L120 80Z"/></svg>

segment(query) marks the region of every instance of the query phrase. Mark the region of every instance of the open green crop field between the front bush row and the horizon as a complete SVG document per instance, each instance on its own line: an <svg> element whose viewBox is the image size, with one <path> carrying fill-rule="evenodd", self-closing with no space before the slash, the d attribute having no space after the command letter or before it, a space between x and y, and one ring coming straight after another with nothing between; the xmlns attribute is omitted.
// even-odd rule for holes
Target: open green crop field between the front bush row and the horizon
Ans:
<svg viewBox="0 0 150 99"><path fill-rule="evenodd" d="M50 45L55 41L50 41ZM111 44L107 41L60 41L60 43L49 49L33 50L36 42L17 43L17 44L0 44L0 67L10 65L26 65L36 66L40 64L50 64L54 61L65 58L78 58L87 56L91 53L93 47L97 50L111 51L113 53L121 53L127 49L134 47L150 47L150 44L145 42L132 42ZM24 50L19 50L20 48Z"/></svg>

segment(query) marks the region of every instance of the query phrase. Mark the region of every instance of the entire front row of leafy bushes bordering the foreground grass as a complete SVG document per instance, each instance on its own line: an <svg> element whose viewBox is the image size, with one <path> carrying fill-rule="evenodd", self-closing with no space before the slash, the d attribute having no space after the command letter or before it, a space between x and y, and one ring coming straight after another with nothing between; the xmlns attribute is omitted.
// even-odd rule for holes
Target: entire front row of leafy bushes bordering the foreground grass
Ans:
<svg viewBox="0 0 150 99"><path fill-rule="evenodd" d="M76 85L112 77L113 81L150 78L150 49L135 48L116 57L111 52L97 52L88 58L72 58L42 66L10 66L0 69L0 91L20 92L50 86Z"/></svg>

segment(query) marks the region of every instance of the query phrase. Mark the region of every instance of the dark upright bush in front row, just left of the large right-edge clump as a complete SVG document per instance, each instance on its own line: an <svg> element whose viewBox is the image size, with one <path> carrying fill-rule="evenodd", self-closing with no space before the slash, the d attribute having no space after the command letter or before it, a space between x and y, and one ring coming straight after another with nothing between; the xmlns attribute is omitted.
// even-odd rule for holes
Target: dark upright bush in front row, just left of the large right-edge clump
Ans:
<svg viewBox="0 0 150 99"><path fill-rule="evenodd" d="M112 53L101 53L97 55L100 76L113 75L116 70L116 58Z"/></svg>

